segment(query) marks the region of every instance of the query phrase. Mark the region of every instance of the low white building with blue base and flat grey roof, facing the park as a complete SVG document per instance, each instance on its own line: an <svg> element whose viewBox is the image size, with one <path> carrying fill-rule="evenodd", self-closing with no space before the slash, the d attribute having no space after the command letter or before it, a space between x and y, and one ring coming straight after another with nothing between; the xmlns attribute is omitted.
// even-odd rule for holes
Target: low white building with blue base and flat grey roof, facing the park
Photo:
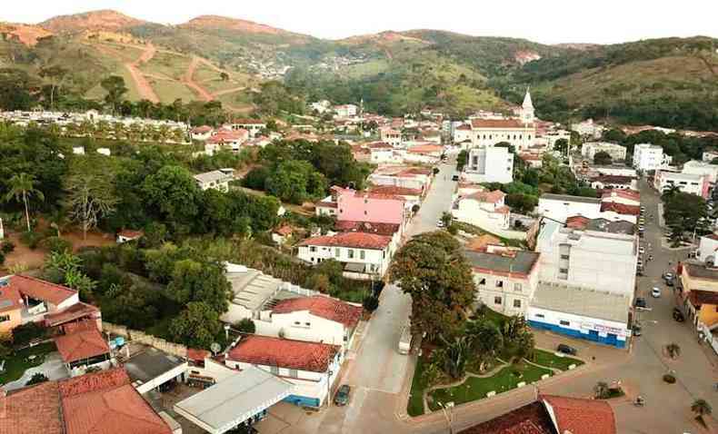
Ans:
<svg viewBox="0 0 718 434"><path fill-rule="evenodd" d="M536 329L624 348L632 302L627 294L540 281L526 320Z"/></svg>

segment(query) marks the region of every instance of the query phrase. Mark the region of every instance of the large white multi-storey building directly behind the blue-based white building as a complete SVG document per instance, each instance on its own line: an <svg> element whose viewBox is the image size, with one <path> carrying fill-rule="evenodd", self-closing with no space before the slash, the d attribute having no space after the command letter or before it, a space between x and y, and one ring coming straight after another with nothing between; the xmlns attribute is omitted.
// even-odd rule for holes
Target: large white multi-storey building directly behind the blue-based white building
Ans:
<svg viewBox="0 0 718 434"><path fill-rule="evenodd" d="M638 238L633 234L578 230L543 220L536 242L540 280L608 291L633 301Z"/></svg>

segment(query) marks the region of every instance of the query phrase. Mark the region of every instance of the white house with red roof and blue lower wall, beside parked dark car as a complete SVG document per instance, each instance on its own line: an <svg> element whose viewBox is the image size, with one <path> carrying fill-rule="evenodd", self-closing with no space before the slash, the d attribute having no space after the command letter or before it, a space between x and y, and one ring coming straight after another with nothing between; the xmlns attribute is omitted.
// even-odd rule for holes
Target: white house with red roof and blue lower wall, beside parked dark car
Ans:
<svg viewBox="0 0 718 434"><path fill-rule="evenodd" d="M343 360L336 345L248 335L229 350L224 363L237 370L254 366L271 372L295 386L285 401L320 407L339 377Z"/></svg>

